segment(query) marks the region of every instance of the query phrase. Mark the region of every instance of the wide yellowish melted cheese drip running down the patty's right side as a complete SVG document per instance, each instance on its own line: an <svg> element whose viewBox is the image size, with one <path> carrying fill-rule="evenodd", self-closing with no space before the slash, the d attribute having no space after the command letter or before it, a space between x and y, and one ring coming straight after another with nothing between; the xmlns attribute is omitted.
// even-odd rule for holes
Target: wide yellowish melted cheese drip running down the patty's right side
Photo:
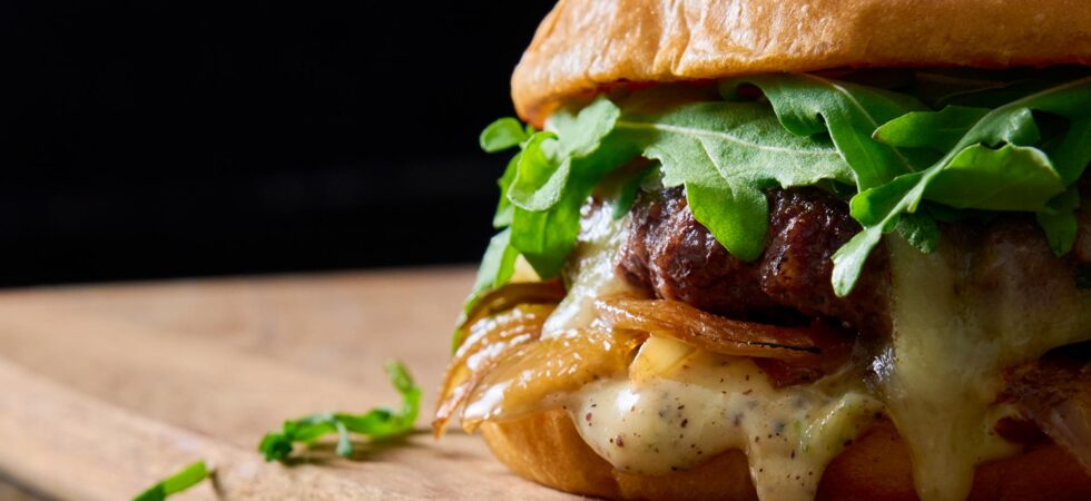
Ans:
<svg viewBox="0 0 1091 501"><path fill-rule="evenodd" d="M977 463L1018 452L994 433L1009 413L993 404L1004 367L1091 338L1091 294L1061 269L1028 269L1018 253L954 239L931 255L902 238L886 245L894 340L873 369L911 451L917 494L961 501Z"/></svg>

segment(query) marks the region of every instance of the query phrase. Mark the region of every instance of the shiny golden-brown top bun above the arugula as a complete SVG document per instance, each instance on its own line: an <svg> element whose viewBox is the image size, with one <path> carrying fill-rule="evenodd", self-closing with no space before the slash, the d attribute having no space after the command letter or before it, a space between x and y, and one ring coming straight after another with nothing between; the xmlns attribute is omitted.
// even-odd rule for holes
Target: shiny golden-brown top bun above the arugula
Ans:
<svg viewBox="0 0 1091 501"><path fill-rule="evenodd" d="M566 99L626 81L1088 62L1083 0L560 0L511 89L540 125Z"/></svg>

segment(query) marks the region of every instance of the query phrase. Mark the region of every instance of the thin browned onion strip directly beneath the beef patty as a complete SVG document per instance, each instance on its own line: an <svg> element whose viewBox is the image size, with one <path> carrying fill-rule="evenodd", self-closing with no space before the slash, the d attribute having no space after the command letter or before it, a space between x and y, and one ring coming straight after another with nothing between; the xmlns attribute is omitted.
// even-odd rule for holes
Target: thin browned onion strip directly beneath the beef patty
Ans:
<svg viewBox="0 0 1091 501"><path fill-rule="evenodd" d="M822 351L812 327L733 321L677 301L603 299L594 306L615 328L674 337L723 355L804 361Z"/></svg>

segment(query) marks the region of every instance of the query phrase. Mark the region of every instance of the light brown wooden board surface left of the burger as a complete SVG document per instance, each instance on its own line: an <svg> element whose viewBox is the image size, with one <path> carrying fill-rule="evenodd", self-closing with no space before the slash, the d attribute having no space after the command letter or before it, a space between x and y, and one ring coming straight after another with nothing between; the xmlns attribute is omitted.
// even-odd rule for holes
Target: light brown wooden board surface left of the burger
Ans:
<svg viewBox="0 0 1091 501"><path fill-rule="evenodd" d="M2 293L0 498L125 500L205 459L214 481L177 499L573 499L512 475L478 436L427 433L472 279L432 268ZM285 419L399 404L392 357L425 391L417 433L360 443L353 460L256 452Z"/></svg>

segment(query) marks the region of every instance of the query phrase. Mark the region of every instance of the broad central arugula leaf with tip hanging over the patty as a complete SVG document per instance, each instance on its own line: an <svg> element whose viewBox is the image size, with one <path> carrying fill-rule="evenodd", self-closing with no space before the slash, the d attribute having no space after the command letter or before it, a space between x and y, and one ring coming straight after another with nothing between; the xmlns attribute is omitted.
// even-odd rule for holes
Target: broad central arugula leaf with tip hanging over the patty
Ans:
<svg viewBox="0 0 1091 501"><path fill-rule="evenodd" d="M617 127L641 137L643 156L661 164L664 186L685 185L694 217L744 261L765 247L764 188L853 181L828 140L784 130L763 104L689 104L657 115L625 115Z"/></svg>

